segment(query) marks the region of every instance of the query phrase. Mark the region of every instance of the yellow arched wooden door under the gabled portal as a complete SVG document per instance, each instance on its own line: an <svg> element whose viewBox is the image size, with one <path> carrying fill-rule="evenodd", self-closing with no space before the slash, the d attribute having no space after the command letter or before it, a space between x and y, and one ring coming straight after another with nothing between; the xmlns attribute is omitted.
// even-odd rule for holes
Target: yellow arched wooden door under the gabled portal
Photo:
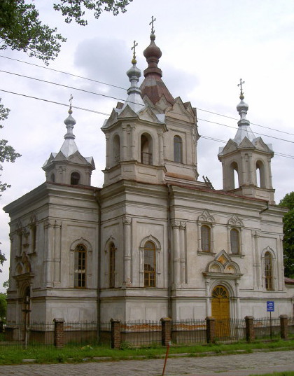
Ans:
<svg viewBox="0 0 294 376"><path fill-rule="evenodd" d="M216 337L230 335L230 299L228 290L221 285L212 291L211 316L216 319Z"/></svg>

